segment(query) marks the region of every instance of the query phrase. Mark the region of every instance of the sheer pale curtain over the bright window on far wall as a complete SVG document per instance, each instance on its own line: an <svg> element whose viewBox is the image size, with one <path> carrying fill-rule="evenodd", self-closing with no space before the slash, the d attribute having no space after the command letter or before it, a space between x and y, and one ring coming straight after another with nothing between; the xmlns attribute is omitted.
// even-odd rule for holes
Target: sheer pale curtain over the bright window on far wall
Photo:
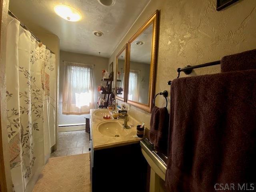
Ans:
<svg viewBox="0 0 256 192"><path fill-rule="evenodd" d="M93 66L67 61L64 65L62 113L89 114L94 108Z"/></svg>

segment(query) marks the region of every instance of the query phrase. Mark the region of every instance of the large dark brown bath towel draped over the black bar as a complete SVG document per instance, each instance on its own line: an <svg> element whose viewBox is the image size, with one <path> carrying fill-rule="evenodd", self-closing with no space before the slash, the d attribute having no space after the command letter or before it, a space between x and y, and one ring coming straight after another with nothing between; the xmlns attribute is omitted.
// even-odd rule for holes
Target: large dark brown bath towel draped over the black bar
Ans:
<svg viewBox="0 0 256 192"><path fill-rule="evenodd" d="M173 80L170 129L168 192L256 190L256 70Z"/></svg>

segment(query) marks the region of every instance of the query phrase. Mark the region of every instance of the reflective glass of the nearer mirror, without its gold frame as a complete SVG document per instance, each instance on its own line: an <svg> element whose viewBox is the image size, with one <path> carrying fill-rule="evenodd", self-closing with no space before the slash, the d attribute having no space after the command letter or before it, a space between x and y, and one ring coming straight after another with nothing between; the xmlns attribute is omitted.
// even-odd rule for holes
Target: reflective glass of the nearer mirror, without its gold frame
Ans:
<svg viewBox="0 0 256 192"><path fill-rule="evenodd" d="M130 45L128 100L142 104L148 104L149 99L152 32L153 24L148 26ZM136 76L135 71L139 71L139 75Z"/></svg>

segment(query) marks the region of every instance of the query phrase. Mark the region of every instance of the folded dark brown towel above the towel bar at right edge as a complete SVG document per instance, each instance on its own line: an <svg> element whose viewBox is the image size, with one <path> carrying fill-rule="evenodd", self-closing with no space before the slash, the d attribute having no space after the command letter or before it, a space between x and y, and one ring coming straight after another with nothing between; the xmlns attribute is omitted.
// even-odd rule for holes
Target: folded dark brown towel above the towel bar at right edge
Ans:
<svg viewBox="0 0 256 192"><path fill-rule="evenodd" d="M256 69L256 49L224 56L220 68L221 72Z"/></svg>

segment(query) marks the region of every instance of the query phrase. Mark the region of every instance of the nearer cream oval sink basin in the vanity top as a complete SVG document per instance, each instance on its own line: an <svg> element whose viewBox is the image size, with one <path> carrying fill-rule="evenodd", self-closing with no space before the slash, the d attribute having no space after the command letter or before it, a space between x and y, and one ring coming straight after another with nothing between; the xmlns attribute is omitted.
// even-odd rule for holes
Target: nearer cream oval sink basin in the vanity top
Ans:
<svg viewBox="0 0 256 192"><path fill-rule="evenodd" d="M124 129L118 121L102 122L98 125L98 130L101 134L109 137L123 137L132 132L130 128Z"/></svg>

